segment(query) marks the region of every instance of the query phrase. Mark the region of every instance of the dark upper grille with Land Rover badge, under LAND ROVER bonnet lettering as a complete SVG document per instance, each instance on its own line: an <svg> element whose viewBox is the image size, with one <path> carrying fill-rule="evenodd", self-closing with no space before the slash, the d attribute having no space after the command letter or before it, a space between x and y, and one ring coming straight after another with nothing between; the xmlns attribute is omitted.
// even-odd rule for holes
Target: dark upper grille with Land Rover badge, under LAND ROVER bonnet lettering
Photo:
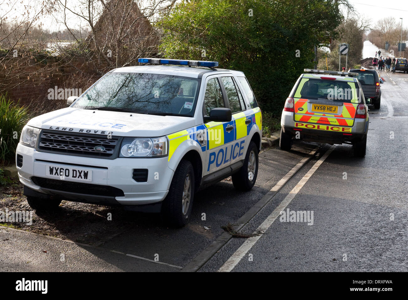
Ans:
<svg viewBox="0 0 408 300"><path fill-rule="evenodd" d="M38 150L95 158L114 158L113 154L118 145L117 137L43 130L38 141ZM96 146L102 146L105 149L95 151Z"/></svg>

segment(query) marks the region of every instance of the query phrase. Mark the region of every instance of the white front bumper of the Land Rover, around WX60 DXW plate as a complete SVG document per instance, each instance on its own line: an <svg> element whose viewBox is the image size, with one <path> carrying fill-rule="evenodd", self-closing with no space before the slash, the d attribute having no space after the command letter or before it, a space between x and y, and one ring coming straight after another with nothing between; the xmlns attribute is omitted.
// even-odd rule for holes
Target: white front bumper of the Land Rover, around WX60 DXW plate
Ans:
<svg viewBox="0 0 408 300"><path fill-rule="evenodd" d="M55 153L44 153L34 148L18 144L16 155L22 156L22 167L17 166L20 182L30 190L43 194L52 194L66 198L67 200L101 204L144 205L161 202L169 192L170 183L174 171L168 167L168 158L89 158L80 156L68 156ZM46 166L78 167L92 170L92 181L50 178L46 175ZM147 169L146 182L136 182L133 169ZM40 179L38 179L40 178ZM44 186L42 178L52 180L53 185ZM35 184L35 182L37 184ZM48 181L47 181L48 182ZM108 188L117 192L110 196L94 192L95 187ZM58 188L60 184L61 187ZM73 190L67 189L73 187ZM87 188L89 187L89 188ZM115 196L120 195L120 196ZM123 195L123 196L122 196Z"/></svg>

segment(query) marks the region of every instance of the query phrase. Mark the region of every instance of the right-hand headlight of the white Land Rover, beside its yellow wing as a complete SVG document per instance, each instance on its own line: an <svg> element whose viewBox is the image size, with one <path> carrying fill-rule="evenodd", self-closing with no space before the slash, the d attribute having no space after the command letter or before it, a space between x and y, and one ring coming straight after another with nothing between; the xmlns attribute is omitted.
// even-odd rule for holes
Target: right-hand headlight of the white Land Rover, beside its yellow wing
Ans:
<svg viewBox="0 0 408 300"><path fill-rule="evenodd" d="M124 138L120 149L121 157L163 157L167 156L166 137Z"/></svg>

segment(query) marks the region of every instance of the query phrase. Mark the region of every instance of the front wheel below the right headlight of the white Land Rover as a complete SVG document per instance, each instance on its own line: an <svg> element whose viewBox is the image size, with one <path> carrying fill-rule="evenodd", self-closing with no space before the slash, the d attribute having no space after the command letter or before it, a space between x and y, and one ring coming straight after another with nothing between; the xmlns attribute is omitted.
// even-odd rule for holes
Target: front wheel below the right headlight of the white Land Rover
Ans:
<svg viewBox="0 0 408 300"><path fill-rule="evenodd" d="M162 203L162 219L172 227L183 227L191 216L194 200L194 169L191 162L182 160L174 172L169 193Z"/></svg>

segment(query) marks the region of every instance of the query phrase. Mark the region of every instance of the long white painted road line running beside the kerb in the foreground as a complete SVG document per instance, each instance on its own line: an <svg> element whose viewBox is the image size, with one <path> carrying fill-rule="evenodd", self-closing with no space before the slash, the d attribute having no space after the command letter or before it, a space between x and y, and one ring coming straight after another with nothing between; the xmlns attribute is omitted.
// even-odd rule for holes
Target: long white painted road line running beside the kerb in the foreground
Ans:
<svg viewBox="0 0 408 300"><path fill-rule="evenodd" d="M296 184L296 186L290 191L288 196L275 208L275 210L262 222L262 224L257 228L254 233L257 232L266 232L269 227L271 227L272 223L279 217L279 213L283 211L286 206L295 198L296 194L299 193L300 189L304 186L304 184L308 181L308 179L315 173L317 168L324 162L324 160L330 155L330 153L334 150L335 146L330 147L326 153L313 165L313 167L306 173L305 176ZM218 270L218 272L230 272L234 269L234 267L239 263L240 260L246 255L246 253L255 245L255 243L261 238L262 235L253 236L251 238L247 238L242 244L241 247L222 265L222 267Z"/></svg>

